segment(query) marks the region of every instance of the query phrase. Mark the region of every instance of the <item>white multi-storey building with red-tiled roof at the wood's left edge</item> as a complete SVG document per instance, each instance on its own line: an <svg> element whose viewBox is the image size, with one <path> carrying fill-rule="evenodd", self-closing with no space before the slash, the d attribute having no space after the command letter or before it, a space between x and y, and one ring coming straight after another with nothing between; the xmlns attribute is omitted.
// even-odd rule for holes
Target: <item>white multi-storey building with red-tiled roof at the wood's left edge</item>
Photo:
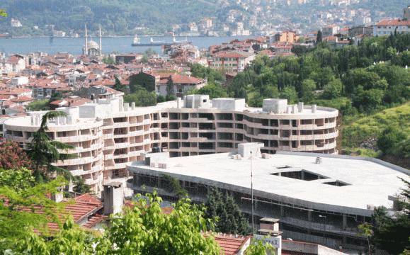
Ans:
<svg viewBox="0 0 410 255"><path fill-rule="evenodd" d="M227 72L244 72L245 67L255 60L255 55L250 52L234 51L220 52L210 60L212 69L224 69Z"/></svg>

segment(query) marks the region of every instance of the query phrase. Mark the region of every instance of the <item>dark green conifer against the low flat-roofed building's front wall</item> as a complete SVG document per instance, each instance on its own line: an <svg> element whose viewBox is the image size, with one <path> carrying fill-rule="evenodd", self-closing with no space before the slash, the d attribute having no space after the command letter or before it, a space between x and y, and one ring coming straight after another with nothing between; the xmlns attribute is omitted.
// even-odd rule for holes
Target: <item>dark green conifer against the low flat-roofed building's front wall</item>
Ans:
<svg viewBox="0 0 410 255"><path fill-rule="evenodd" d="M212 188L205 202L205 217L215 219L217 232L230 234L249 234L251 231L239 206L232 196L222 194L217 188Z"/></svg>

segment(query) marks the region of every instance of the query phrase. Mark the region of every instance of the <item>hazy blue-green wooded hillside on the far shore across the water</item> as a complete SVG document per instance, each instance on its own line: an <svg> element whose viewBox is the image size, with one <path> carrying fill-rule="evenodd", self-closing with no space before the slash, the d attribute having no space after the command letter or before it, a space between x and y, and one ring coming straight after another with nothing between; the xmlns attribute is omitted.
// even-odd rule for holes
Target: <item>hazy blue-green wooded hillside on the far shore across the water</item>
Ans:
<svg viewBox="0 0 410 255"><path fill-rule="evenodd" d="M136 32L135 27L149 28L143 33L164 33L174 24L188 26L203 17L214 18L217 26L229 23L227 15L230 10L237 13L237 21L243 21L245 27L249 26L252 16L258 22L256 27L265 23L283 26L286 21L291 27L298 28L297 24L302 23L300 28L314 30L320 24L317 14L334 11L337 7L320 3L319 0L309 0L303 5L288 5L284 0L1 0L0 8L6 8L8 18L0 21L0 33L49 35L51 28L46 26L55 25L57 30L81 34L84 23L89 23L91 31L96 31L101 23L105 35L132 35ZM364 10L370 10L372 21L377 21L383 16L401 17L407 4L410 0L360 0L342 9L357 10L358 16L362 16ZM11 18L17 18L23 26L12 29Z"/></svg>

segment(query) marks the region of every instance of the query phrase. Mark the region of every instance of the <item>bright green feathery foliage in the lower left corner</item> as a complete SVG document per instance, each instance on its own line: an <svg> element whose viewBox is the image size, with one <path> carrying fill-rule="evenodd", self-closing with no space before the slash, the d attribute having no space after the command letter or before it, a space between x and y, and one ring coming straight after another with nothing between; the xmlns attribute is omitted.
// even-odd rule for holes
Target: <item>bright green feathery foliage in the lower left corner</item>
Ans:
<svg viewBox="0 0 410 255"><path fill-rule="evenodd" d="M36 183L29 170L1 171L0 176L0 253L15 249L16 244L37 229L47 233L47 222L59 223L62 205L50 200L65 185L57 178L49 183ZM22 210L28 208L30 210Z"/></svg>

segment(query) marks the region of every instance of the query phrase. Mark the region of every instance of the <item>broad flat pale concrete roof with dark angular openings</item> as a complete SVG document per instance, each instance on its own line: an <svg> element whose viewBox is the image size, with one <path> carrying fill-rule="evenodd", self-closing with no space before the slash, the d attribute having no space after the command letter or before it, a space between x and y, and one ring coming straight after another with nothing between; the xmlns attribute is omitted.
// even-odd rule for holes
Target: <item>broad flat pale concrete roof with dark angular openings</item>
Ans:
<svg viewBox="0 0 410 255"><path fill-rule="evenodd" d="M388 196L401 193L410 171L386 162L372 162L360 157L319 154L321 164L315 164L318 154L284 152L269 159L252 159L255 196L271 198L317 210L329 210L358 215L371 215L368 205L389 208ZM232 154L207 154L166 159L166 169L133 162L127 169L142 174L169 174L185 181L194 181L250 193L251 160L232 159ZM278 169L289 166L290 168ZM279 172L305 170L327 179L304 181L273 175ZM346 186L327 182L341 181Z"/></svg>

